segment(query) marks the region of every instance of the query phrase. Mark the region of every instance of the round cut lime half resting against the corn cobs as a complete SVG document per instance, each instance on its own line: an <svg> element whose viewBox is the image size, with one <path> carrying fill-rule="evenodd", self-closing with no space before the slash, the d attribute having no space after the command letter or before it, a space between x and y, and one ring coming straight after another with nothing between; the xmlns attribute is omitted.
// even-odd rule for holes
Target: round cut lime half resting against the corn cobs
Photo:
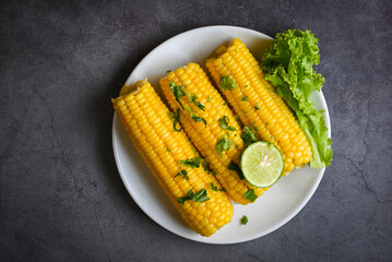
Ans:
<svg viewBox="0 0 392 262"><path fill-rule="evenodd" d="M282 152L269 142L256 142L243 151L241 169L250 184L269 188L280 180L283 174Z"/></svg>

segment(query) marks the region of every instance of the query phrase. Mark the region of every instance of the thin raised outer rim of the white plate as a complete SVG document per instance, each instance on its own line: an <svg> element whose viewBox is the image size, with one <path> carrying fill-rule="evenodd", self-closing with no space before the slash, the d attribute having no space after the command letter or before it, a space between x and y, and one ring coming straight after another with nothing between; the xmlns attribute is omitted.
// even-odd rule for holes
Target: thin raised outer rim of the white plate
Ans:
<svg viewBox="0 0 392 262"><path fill-rule="evenodd" d="M197 28L192 28L192 29L189 29L189 31L186 31L186 32L182 32L180 34L177 34L175 36L171 36L169 37L168 39L164 40L163 43L161 43L159 45L157 45L155 48L153 48L146 56L143 57L143 59L140 60L140 62L133 68L132 72L130 73L130 75L128 76L127 81L124 82L123 85L126 85L130 79L133 76L133 73L134 71L139 68L139 66L141 63L143 63L144 60L146 60L150 56L153 55L153 52L155 52L158 48L161 48L163 45L165 45L166 43L170 41L171 39L174 38L177 38L177 37L180 37L181 35L185 35L185 34L191 34L195 31L205 31L205 29L211 29L211 28L235 28L235 29L241 29L241 31L248 31L252 34L257 34L257 35L260 35L260 36L263 36L263 37L266 37L266 38L271 38L273 39L271 36L269 35L265 35L261 32L258 32L258 31L254 31L254 29L250 29L250 28L246 28L246 27L241 27L241 26L231 26L231 25L210 25L210 26L202 26L202 27L197 27ZM324 121L325 121L325 126L328 127L328 135L329 138L331 138L331 119L330 119L330 114L329 114L329 109L328 109L328 105L326 105L326 102L325 102L325 97L322 93L322 91L319 92L319 98L320 98L320 104L321 106L323 107L324 112L323 112L323 117L324 117ZM268 230L262 230L261 233L259 234L254 234L252 236L249 236L249 237L242 237L240 239L236 239L236 240L228 240L228 241L219 241L219 240L213 240L211 241L212 239L211 238L200 238L200 239L195 239L195 238L191 238L187 235L180 235L178 231L175 231L173 230L171 228L167 227L165 224L163 224L162 222L159 221L156 221L154 219L151 214L146 211L146 209L144 207L143 204L140 203L139 201L139 196L136 195L136 193L133 191L132 187L129 184L129 181L127 180L126 178L126 174L124 174L124 170L122 168L122 166L120 165L120 159L119 159L119 148L118 148L118 144L116 143L116 121L119 121L117 115L116 115L116 111L114 112L114 118L112 118L112 124L111 124L111 144L112 144L112 151L114 151L114 156L115 156L115 160L116 160L116 166L117 166L117 169L119 171L119 175L121 177L121 180L123 182L123 184L126 186L127 188L127 191L128 193L132 196L133 201L138 204L138 206L144 212L145 215L147 215L153 222L155 222L156 224L158 224L159 226L162 226L163 228L167 229L168 231L179 236L179 237L182 237L182 238L186 238L186 239L189 239L189 240L192 240L192 241L197 241L197 242L202 242L202 243L213 243L213 245L233 245L233 243L241 243L241 242L247 242L247 241L251 241L251 240L254 240L254 239L258 239L258 238L261 238L263 236L266 236L269 235L270 233L273 233L275 231L276 229L281 228L282 226L284 226L285 224L287 224L289 221L293 219L293 217L295 217L304 207L305 205L309 202L309 200L313 196L316 190L318 189L320 182L321 182L321 179L323 178L324 176L324 171L325 171L325 168L320 168L320 175L318 175L318 178L317 180L314 181L313 186L311 187L311 189L308 191L306 198L304 198L300 202L300 204L295 209L295 211L293 211L290 213L290 215L287 215L285 219L282 219L280 223L277 223L275 226L273 227L270 227Z"/></svg>

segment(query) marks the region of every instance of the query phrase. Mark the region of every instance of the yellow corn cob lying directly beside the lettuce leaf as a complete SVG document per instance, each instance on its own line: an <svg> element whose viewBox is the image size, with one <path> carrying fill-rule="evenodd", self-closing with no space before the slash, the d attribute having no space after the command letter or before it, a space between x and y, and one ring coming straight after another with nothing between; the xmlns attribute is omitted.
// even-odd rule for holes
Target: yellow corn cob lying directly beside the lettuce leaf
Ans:
<svg viewBox="0 0 392 262"><path fill-rule="evenodd" d="M221 46L217 58L206 67L217 86L222 76L230 78L237 87L222 90L228 104L245 126L253 129L259 139L276 145L284 155L284 174L310 160L311 147L297 120L273 86L254 57L238 38L230 46ZM243 98L245 97L245 98Z"/></svg>

